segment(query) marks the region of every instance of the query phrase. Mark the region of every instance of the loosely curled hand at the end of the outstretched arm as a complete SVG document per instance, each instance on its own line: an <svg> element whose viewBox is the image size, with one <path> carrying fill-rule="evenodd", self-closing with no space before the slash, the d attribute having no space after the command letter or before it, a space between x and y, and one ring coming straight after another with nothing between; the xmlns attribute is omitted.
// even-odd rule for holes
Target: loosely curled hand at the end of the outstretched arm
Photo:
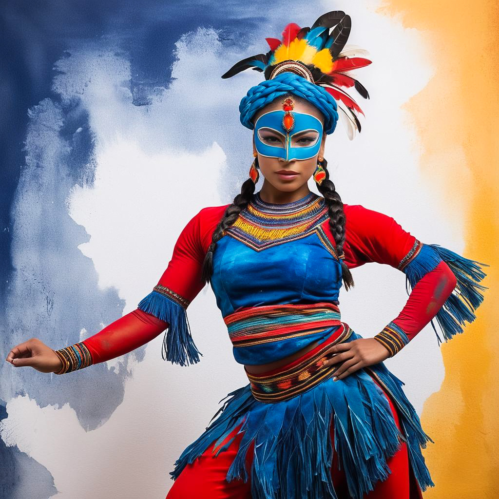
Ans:
<svg viewBox="0 0 499 499"><path fill-rule="evenodd" d="M62 361L57 354L38 338L31 338L14 346L5 360L14 367L30 366L41 373L62 369Z"/></svg>

